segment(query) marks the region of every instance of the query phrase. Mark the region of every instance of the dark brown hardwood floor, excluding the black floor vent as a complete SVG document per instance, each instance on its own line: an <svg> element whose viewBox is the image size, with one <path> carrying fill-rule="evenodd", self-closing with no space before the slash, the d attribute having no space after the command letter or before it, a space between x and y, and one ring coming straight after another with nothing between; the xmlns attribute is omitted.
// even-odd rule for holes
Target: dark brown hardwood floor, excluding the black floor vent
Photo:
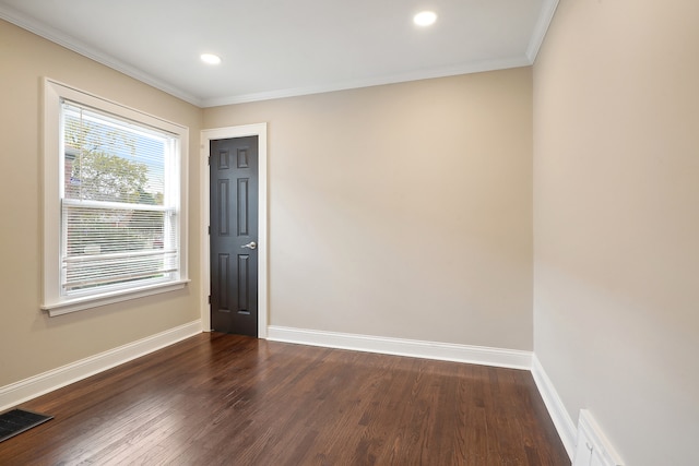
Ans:
<svg viewBox="0 0 699 466"><path fill-rule="evenodd" d="M528 371L201 334L22 405L0 465L570 465Z"/></svg>

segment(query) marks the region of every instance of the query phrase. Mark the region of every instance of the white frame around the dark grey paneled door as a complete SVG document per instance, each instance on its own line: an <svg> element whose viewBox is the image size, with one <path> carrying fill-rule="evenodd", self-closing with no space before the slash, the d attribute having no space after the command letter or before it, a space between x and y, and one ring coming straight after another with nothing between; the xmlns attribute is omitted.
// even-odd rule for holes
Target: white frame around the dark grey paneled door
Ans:
<svg viewBox="0 0 699 466"><path fill-rule="evenodd" d="M209 155L211 141L230 138L258 136L258 337L266 338L268 326L268 230L266 230L266 123L245 124L240 127L215 128L201 132L201 326L211 332L211 256L209 237Z"/></svg>

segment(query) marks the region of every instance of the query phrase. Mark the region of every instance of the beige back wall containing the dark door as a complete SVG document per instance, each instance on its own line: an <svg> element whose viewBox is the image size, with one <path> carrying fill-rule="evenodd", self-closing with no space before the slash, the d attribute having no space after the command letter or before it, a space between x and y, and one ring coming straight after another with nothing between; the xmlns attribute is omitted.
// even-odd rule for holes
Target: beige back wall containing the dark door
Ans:
<svg viewBox="0 0 699 466"><path fill-rule="evenodd" d="M204 109L269 122L270 324L532 349L531 69Z"/></svg>

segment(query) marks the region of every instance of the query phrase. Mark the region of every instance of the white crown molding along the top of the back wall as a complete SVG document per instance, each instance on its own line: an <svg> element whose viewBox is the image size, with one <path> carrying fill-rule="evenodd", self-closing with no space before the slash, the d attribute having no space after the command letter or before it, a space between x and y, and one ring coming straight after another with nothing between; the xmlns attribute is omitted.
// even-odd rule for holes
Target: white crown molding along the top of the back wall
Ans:
<svg viewBox="0 0 699 466"><path fill-rule="evenodd" d="M310 94L322 94L336 91L347 91L360 87L380 86L384 84L398 84L410 81L430 80L435 77L455 76L459 74L481 73L485 71L507 70L510 68L529 67L532 62L525 57L510 57L500 60L483 60L465 63L459 67L448 67L433 70L420 70L408 73L392 74L389 76L368 77L364 80L343 81L332 84L321 84L305 87L293 87L269 92L232 95L222 98L210 98L202 101L202 107L218 107L223 105L245 104L258 100L271 100L275 98L298 97Z"/></svg>

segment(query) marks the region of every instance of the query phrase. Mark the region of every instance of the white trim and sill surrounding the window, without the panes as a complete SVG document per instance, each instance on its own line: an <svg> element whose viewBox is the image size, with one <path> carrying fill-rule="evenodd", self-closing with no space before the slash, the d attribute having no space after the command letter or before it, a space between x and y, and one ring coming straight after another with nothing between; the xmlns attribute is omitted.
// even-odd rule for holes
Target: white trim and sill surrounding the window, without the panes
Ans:
<svg viewBox="0 0 699 466"><path fill-rule="evenodd" d="M61 99L78 101L104 111L121 117L141 121L155 128L175 133L180 140L180 274L176 282L165 282L134 286L91 296L70 297L62 296L60 291L60 241L61 241L61 214L60 214L60 179L62 157L58 156L60 146L60 107ZM66 84L44 79L44 139L43 139L43 166L44 166L44 192L43 192L43 300L42 310L48 311L50 316L69 312L111 304L145 296L181 289L189 283L188 278L188 148L189 129L161 118L144 113L133 108L125 107L111 100L76 89Z"/></svg>

